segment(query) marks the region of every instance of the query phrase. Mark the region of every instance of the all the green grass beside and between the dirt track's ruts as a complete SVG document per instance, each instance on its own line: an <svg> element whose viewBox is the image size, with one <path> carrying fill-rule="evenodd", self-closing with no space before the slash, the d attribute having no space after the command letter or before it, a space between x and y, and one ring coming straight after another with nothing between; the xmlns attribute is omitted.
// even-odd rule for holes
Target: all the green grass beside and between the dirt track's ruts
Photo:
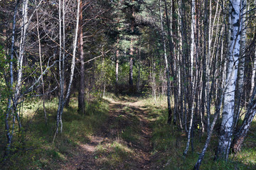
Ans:
<svg viewBox="0 0 256 170"><path fill-rule="evenodd" d="M109 104L118 101L118 107L112 108L117 115L108 115ZM126 104L120 103L126 102ZM138 108L129 106L129 103L137 101ZM117 102L117 103L118 103ZM172 102L173 103L173 102ZM101 169L136 169L138 154L132 147L139 146L141 140L141 129L139 123L141 117L139 112L146 113L146 119L152 130L151 144L151 169L193 169L201 152L206 135L200 139L198 131L195 130L193 138L193 152L191 145L186 158L183 150L186 147L186 132L181 132L174 125L167 125L168 111L166 109L165 96L154 98L139 98L136 96L114 96L107 94L104 98L95 98L86 105L86 115L78 114L76 98L71 98L70 106L64 109L63 133L55 134L55 117L58 101L53 99L47 101L46 111L48 113L48 124L45 125L40 101L28 103L24 107L23 123L33 118L29 123L28 131L24 136L24 143L14 139L14 151L9 162L0 169L62 169L70 158L78 154L81 145L91 142L91 137L101 132L102 125L108 125L113 134L105 137L97 144L95 152L92 152L95 164ZM36 114L35 114L36 112ZM110 116L115 116L109 122ZM108 120L108 121L107 121ZM256 128L256 122L252 123L251 130ZM4 134L4 125L1 124L1 134ZM0 135L0 153L5 146L4 135ZM256 169L256 134L249 132L245 139L242 151L238 154L230 154L228 162L214 162L213 157L218 144L218 137L214 134L206 156L201 164L201 169ZM22 145L22 146L21 146ZM166 165L166 162L170 164Z"/></svg>

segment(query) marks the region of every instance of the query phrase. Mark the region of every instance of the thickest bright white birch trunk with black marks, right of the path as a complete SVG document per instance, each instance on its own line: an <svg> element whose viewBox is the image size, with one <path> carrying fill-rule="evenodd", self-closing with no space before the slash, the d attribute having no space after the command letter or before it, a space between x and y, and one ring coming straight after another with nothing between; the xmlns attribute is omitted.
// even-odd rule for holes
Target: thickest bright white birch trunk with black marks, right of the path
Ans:
<svg viewBox="0 0 256 170"><path fill-rule="evenodd" d="M233 135L233 118L235 106L235 81L238 76L238 58L240 54L240 0L230 1L230 40L228 42L227 78L223 101L222 123L216 158L228 159L231 137Z"/></svg>

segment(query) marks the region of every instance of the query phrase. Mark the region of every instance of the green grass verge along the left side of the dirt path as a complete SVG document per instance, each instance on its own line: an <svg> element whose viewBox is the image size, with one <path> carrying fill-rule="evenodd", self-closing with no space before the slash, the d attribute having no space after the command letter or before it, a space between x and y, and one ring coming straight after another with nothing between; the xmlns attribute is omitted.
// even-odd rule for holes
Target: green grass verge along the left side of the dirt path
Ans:
<svg viewBox="0 0 256 170"><path fill-rule="evenodd" d="M68 157L73 157L76 147L88 142L90 135L97 132L100 125L107 120L107 101L95 98L86 105L87 115L80 115L77 112L76 98L71 98L70 106L63 112L63 133L58 134L53 142L58 101L53 99L46 103L47 125L44 123L41 108L34 115L40 104L41 102L36 101L24 107L24 123L34 116L28 124L24 146L18 146L21 144L14 139L14 154L0 169L60 169L60 162L66 162ZM4 138L0 140L4 142Z"/></svg>

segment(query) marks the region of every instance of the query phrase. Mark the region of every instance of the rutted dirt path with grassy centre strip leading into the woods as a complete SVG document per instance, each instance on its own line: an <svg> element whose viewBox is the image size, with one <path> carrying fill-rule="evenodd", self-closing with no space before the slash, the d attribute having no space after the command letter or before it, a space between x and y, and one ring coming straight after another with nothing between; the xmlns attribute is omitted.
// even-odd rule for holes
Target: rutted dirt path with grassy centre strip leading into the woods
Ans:
<svg viewBox="0 0 256 170"><path fill-rule="evenodd" d="M108 120L62 169L151 169L152 130L138 98L107 99Z"/></svg>

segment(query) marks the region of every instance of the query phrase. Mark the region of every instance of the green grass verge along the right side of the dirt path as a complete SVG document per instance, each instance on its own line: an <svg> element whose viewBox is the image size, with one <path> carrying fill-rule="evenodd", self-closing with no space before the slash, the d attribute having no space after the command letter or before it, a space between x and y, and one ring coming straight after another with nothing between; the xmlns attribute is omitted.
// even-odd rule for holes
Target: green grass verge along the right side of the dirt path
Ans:
<svg viewBox="0 0 256 170"><path fill-rule="evenodd" d="M151 128L153 134L151 142L154 149L152 169L193 169L196 164L199 153L206 141L206 135L198 139L198 132L193 139L194 151L191 152L191 145L186 158L183 157L183 150L186 147L187 137L185 132L181 132L174 125L167 125L168 111L166 109L165 98L144 98L141 101L143 106L149 113L151 120ZM163 109L164 108L164 109ZM256 128L255 121L252 123L251 129ZM228 162L214 162L215 148L218 144L218 137L213 135L210 146L206 152L206 156L201 164L201 169L256 169L256 134L252 132L245 140L242 151L236 155L230 154ZM166 162L169 164L166 166Z"/></svg>

